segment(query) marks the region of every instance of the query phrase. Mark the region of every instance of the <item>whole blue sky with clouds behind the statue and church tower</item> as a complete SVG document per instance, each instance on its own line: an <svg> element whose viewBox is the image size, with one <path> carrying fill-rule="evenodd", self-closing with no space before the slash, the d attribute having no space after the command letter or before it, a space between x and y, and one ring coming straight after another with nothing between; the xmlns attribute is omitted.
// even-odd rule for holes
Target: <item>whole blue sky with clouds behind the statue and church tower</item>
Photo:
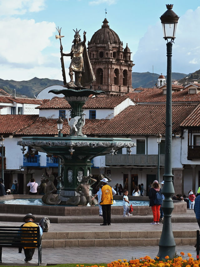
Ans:
<svg viewBox="0 0 200 267"><path fill-rule="evenodd" d="M200 69L200 1L170 3L180 17L172 72L189 74ZM73 29L81 29L82 40L86 31L89 41L105 17L124 48L128 43L135 64L133 72L166 75L166 41L160 21L166 4L163 0L0 0L0 79L63 80L56 27L62 27L63 52L69 53ZM64 57L64 63L67 74L70 57Z"/></svg>

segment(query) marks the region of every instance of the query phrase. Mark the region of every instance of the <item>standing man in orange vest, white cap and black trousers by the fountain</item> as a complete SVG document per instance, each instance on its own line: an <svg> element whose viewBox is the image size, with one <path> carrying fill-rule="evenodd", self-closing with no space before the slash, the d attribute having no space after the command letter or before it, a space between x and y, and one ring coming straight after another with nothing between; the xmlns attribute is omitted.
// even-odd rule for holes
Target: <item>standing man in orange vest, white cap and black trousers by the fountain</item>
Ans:
<svg viewBox="0 0 200 267"><path fill-rule="evenodd" d="M111 205L113 204L113 195L116 191L108 185L108 179L101 180L103 187L99 189L99 202L102 206L103 223L100 225L111 225Z"/></svg>

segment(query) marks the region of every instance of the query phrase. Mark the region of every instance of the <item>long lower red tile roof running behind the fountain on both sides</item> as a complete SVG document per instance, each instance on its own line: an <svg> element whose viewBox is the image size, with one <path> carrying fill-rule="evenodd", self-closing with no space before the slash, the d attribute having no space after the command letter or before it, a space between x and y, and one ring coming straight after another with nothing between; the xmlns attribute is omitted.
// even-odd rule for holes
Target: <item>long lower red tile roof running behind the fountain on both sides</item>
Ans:
<svg viewBox="0 0 200 267"><path fill-rule="evenodd" d="M195 108L194 105L172 106L174 134L180 132L180 124ZM165 112L164 105L130 106L111 120L86 119L83 133L88 136L133 136L157 135L159 131L165 135ZM16 136L54 136L58 134L56 121L57 119L46 119L38 115L0 115L0 133ZM63 136L69 134L69 129L65 120Z"/></svg>

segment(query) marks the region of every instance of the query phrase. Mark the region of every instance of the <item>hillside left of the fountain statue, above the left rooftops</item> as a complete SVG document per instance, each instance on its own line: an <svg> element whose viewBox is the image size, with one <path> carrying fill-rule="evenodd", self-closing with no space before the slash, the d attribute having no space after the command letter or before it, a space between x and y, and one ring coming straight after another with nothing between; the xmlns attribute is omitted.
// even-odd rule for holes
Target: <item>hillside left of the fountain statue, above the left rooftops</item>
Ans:
<svg viewBox="0 0 200 267"><path fill-rule="evenodd" d="M51 85L63 85L63 81L47 78L39 79L37 77L28 81L0 79L0 88L12 95L14 94L13 89L16 89L16 96L26 95L34 98L34 95L37 95L42 89Z"/></svg>

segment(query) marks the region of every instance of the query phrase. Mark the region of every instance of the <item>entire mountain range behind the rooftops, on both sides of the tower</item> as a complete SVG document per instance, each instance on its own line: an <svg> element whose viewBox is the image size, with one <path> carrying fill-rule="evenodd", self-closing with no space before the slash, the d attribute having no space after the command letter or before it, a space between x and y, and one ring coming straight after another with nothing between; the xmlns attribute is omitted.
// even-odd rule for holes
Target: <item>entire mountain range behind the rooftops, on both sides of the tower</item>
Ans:
<svg viewBox="0 0 200 267"><path fill-rule="evenodd" d="M133 88L144 87L151 88L158 83L158 77L160 74L150 72L132 72L132 86ZM187 78L186 78L187 77ZM167 76L165 76L167 78ZM198 80L200 78L200 70L192 74L184 74L173 72L172 80L180 80L185 84L190 80ZM186 81L185 81L186 79ZM63 85L63 81L51 80L48 78L39 79L37 77L28 81L14 81L14 80L2 80L0 79L0 88L6 91L8 94L14 95L14 89L16 90L16 96L34 97L42 89L51 85Z"/></svg>

